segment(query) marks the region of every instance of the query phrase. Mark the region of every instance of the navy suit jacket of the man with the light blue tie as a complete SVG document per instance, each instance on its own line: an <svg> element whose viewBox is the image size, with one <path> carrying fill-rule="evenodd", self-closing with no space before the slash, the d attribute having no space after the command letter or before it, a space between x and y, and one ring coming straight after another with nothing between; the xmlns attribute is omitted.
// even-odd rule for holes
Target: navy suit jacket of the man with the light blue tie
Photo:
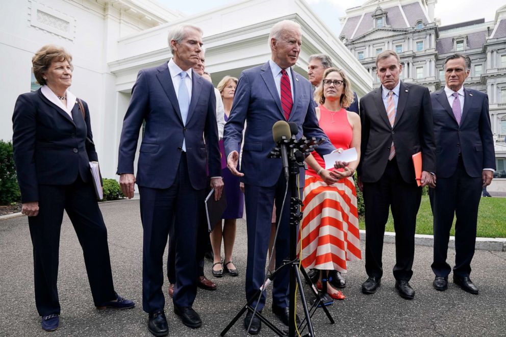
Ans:
<svg viewBox="0 0 506 337"><path fill-rule="evenodd" d="M139 71L123 120L117 174L134 173L139 130L144 121L137 185L159 189L172 186L178 173L183 139L194 189L207 187L208 160L209 175L221 176L216 96L210 82L192 70L192 95L184 125L167 62Z"/></svg>

